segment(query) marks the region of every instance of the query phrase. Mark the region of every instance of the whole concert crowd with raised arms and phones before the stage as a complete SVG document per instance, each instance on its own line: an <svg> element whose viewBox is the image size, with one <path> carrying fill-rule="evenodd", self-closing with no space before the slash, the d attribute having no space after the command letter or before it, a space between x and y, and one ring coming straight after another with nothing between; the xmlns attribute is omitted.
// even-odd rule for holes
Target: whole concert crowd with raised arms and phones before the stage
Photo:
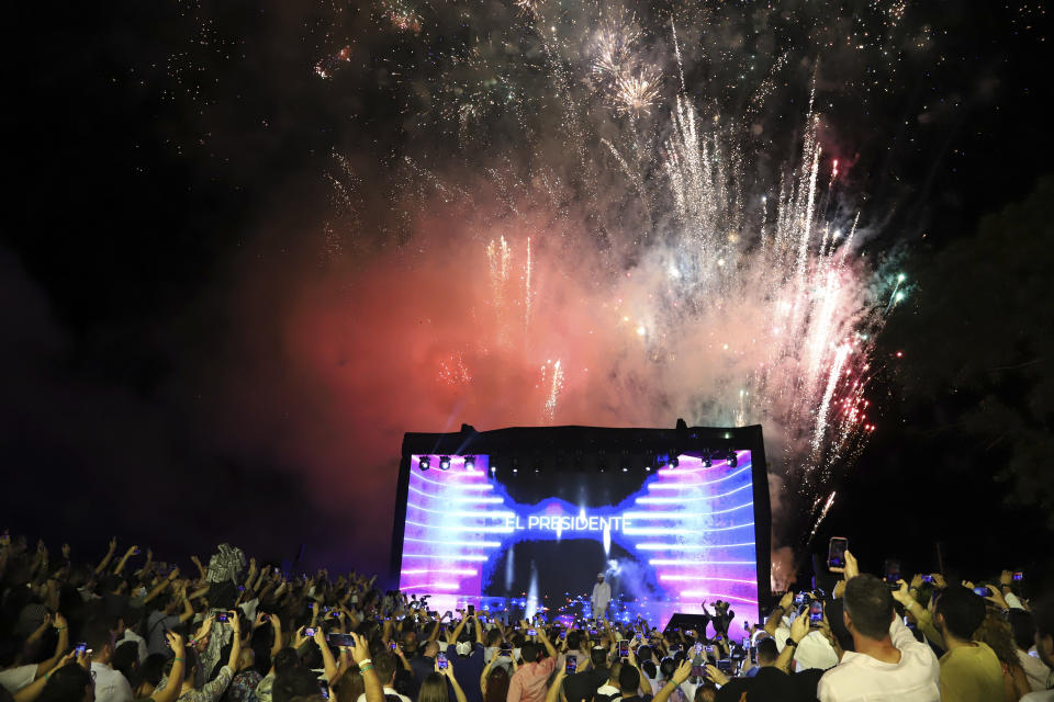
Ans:
<svg viewBox="0 0 1054 702"><path fill-rule="evenodd" d="M226 544L191 562L4 534L0 702L1054 701L1054 608L1009 571L889 582L846 552L832 592L787 592L737 639L725 602L697 631L508 621Z"/></svg>

